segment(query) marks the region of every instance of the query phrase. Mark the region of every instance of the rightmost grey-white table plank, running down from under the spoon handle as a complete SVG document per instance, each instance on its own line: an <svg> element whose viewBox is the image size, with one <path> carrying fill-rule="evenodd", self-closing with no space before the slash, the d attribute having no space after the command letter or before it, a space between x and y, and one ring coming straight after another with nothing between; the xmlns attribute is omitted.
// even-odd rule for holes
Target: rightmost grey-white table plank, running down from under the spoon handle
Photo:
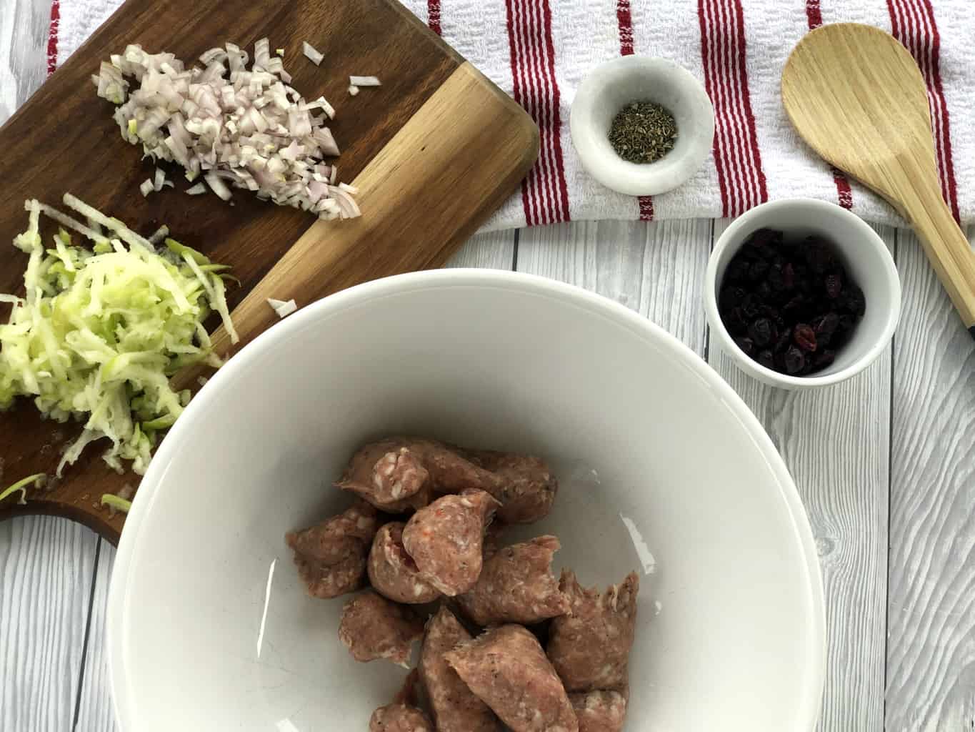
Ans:
<svg viewBox="0 0 975 732"><path fill-rule="evenodd" d="M975 246L975 227L969 229ZM975 729L975 344L913 233L894 341L886 728Z"/></svg>

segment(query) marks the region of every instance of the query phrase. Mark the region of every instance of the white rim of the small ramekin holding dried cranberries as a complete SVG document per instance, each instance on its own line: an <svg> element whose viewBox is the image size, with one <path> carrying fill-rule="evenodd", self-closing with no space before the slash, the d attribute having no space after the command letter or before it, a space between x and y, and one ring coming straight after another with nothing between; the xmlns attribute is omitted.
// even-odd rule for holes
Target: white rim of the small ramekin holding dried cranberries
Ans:
<svg viewBox="0 0 975 732"><path fill-rule="evenodd" d="M761 211L772 207L785 208L788 206L804 206L813 210L818 210L823 212L824 215L835 216L839 219L843 219L845 220L845 223L849 224L852 228L859 229L864 234L864 240L870 242L870 245L874 247L878 254L878 262L884 268L884 280L892 285L891 300L893 306L887 315L887 319L883 323L883 329L878 332L874 343L860 358L851 363L849 366L825 376L789 376L788 374L780 374L777 371L772 371L771 369L765 368L758 361L745 355L741 348L734 343L734 340L731 338L731 334L728 333L727 329L724 327L724 321L722 320L721 313L718 311L717 291L720 284L717 281L718 263L721 260L722 252L725 248L731 246L731 242L735 241L738 232L740 232L743 228L755 226L754 216L752 216L753 214L761 214ZM711 253L711 258L708 261L708 268L705 273L704 287L704 306L707 310L709 324L711 325L712 331L715 332L722 340L723 346L731 352L729 354L738 358L738 360L747 359L748 367L762 374L765 377L766 382L778 383L782 386L786 386L787 388L829 386L832 384L838 384L839 382L859 374L870 364L872 364L883 349L887 347L887 344L890 343L890 339L894 335L894 331L897 329L897 323L900 321L901 287L900 278L897 274L897 265L894 264L894 260L890 256L890 252L887 251L887 248L878 236L878 233L870 227L870 224L867 224L867 222L851 211L841 208L835 203L821 201L817 198L779 198L749 209L740 217L735 219L726 229L724 229L718 246L716 246L714 251Z"/></svg>

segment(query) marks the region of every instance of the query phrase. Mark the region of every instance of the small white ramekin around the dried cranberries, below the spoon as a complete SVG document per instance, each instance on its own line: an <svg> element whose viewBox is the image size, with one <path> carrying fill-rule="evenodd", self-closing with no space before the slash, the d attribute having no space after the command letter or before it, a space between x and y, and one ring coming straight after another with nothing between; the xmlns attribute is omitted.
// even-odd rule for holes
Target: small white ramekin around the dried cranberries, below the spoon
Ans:
<svg viewBox="0 0 975 732"><path fill-rule="evenodd" d="M832 242L839 260L863 290L867 309L853 336L837 352L833 364L809 376L788 376L766 369L731 338L718 311L724 270L735 253L760 228L783 231L786 239L818 234ZM787 198L761 204L724 229L708 263L704 307L713 343L735 365L761 382L782 388L837 384L867 368L890 343L901 314L901 281L897 266L877 232L855 214L826 201Z"/></svg>

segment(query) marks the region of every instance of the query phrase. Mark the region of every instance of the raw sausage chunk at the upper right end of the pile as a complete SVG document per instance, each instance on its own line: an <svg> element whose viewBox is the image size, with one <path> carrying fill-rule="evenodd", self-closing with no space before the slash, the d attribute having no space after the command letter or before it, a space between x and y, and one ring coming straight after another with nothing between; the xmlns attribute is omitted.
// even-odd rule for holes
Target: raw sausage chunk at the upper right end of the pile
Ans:
<svg viewBox="0 0 975 732"><path fill-rule="evenodd" d="M494 476L493 490L484 488L501 502L497 516L506 523L534 523L552 510L559 481L548 465L531 455L466 450L468 460Z"/></svg>

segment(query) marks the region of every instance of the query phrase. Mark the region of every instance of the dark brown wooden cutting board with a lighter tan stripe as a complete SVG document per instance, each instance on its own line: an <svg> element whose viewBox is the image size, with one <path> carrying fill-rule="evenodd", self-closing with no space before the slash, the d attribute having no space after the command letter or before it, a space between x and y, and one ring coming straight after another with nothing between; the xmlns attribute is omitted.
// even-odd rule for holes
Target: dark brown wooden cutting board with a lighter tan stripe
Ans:
<svg viewBox="0 0 975 732"><path fill-rule="evenodd" d="M139 193L155 165L121 139L114 105L96 96L90 77L99 62L129 43L187 64L227 41L253 56L264 36L272 49L285 49L292 86L336 108L338 177L359 186L360 219L316 222L246 191L234 192L233 205L213 194L188 196L181 170L169 164L176 190ZM325 55L320 66L302 56L303 41ZM382 86L349 97L353 74L374 74ZM520 106L395 0L130 0L0 128L0 292L22 290L26 256L8 243L26 227L24 199L63 210L61 196L71 192L145 235L167 224L176 239L231 264L242 282L229 299L243 345L276 322L267 297L307 305L360 282L443 264L524 178L537 141ZM230 352L219 330L215 343ZM0 486L53 472L79 431L41 420L20 399L0 415ZM101 451L89 446L54 488L30 491L25 506L5 501L0 519L57 514L117 542L125 515L109 516L98 502L135 487L138 476L107 468Z"/></svg>

